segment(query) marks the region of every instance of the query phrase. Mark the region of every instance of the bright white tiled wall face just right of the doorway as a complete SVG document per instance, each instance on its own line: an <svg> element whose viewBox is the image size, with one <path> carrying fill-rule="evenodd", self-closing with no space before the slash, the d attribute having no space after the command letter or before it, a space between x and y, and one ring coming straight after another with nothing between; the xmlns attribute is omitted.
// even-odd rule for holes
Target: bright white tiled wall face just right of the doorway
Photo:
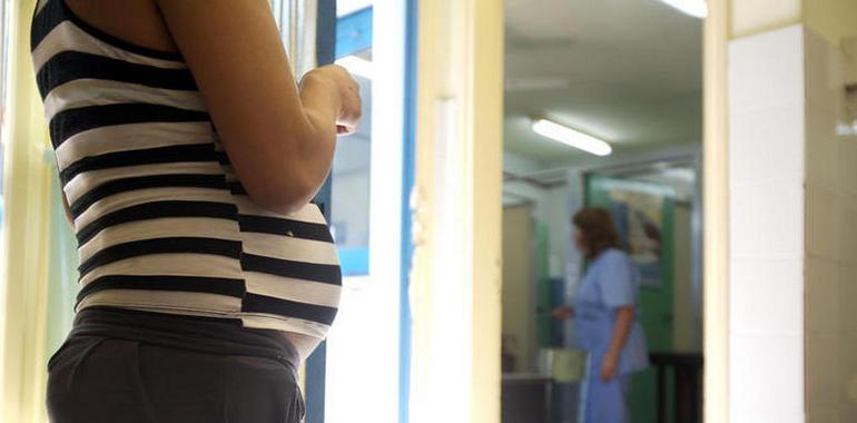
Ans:
<svg viewBox="0 0 857 423"><path fill-rule="evenodd" d="M804 421L804 82L802 27L729 43L731 423Z"/></svg>

